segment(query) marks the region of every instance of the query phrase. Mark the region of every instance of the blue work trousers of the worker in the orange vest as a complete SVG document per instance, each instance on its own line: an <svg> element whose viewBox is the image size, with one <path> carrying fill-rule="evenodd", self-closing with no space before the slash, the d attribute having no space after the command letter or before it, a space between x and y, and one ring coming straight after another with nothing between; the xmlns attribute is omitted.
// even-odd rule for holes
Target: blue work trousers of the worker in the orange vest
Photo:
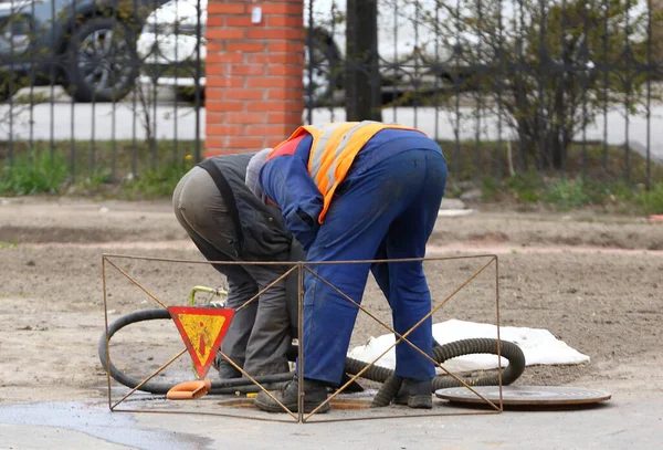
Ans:
<svg viewBox="0 0 663 450"><path fill-rule="evenodd" d="M378 133L359 151L315 238L305 243L307 262L423 258L446 177L442 150L433 140L409 130ZM270 182L263 185L270 195ZM357 303L372 272L399 334L431 311L422 262L311 264L311 269ZM312 273L305 272L305 286L304 377L338 386L358 308ZM432 356L431 318L408 339ZM396 359L399 377L428 380L435 375L434 364L407 343L397 345Z"/></svg>

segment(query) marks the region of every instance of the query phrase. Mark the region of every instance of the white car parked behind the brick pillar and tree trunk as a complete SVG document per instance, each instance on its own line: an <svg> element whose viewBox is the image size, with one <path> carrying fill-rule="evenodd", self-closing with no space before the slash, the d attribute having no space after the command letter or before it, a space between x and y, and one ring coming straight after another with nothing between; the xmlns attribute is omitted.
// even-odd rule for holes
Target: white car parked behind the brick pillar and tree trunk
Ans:
<svg viewBox="0 0 663 450"><path fill-rule="evenodd" d="M313 23L309 29L309 1L304 1L304 24L307 36L305 92L319 103L343 88L345 64L345 0L313 0ZM441 72L432 61L450 55L439 30L418 14L435 9L436 0L420 0L419 10L411 2L379 0L378 52L383 91L393 93L412 88L415 77L421 86L452 76ZM198 6L200 4L200 11ZM200 34L198 34L200 24ZM207 0L171 0L155 10L146 21L138 40L138 54L144 61L144 82L168 85L191 93L206 85L204 61ZM198 38L200 36L200 45ZM309 64L308 43L314 63ZM442 49L442 50L441 50ZM308 69L314 73L308 74ZM448 65L451 69L451 64ZM201 76L197 79L197 74ZM311 81L313 85L311 86Z"/></svg>

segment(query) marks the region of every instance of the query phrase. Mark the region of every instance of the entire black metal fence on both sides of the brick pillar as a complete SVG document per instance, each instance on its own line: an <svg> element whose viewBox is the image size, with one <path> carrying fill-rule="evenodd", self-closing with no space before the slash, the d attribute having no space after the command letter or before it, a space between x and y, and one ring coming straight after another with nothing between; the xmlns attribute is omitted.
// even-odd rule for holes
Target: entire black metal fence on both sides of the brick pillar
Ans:
<svg viewBox="0 0 663 450"><path fill-rule="evenodd" d="M455 182L663 179L656 0L304 4L304 123L421 128L442 143ZM117 181L199 160L206 8L0 1L4 165L48 155L74 177Z"/></svg>

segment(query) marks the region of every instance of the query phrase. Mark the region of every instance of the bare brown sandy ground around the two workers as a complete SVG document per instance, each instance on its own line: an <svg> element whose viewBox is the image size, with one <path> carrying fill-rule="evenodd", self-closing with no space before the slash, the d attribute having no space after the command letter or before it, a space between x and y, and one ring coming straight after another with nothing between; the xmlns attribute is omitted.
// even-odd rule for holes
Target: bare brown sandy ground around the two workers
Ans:
<svg viewBox="0 0 663 450"><path fill-rule="evenodd" d="M427 263L436 303L490 263L436 321L495 323L495 262L460 257L497 254L502 324L547 328L591 357L581 366L528 367L517 384L662 390L663 224L588 212L478 212L439 219L430 244L430 257L454 258ZM0 404L106 395L97 356L104 253L202 261L167 201L0 200ZM196 284L223 282L208 264L110 261L169 305L186 304ZM106 272L109 320L158 307L109 264ZM372 282L364 305L389 322ZM115 364L140 377L177 354L175 326L160 322L118 334ZM383 333L360 315L352 345ZM188 364L161 379L190 379Z"/></svg>

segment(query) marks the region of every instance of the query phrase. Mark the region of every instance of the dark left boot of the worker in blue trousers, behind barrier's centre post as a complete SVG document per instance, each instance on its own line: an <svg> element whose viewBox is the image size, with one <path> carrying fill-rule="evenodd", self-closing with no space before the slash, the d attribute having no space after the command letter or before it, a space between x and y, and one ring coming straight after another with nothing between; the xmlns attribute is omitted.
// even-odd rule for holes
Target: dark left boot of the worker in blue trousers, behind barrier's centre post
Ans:
<svg viewBox="0 0 663 450"><path fill-rule="evenodd" d="M293 412L298 410L298 388L299 383L293 379L283 390L272 391L271 394L278 399L287 409ZM327 399L327 386L323 381L304 379L304 412L311 412L319 404ZM255 397L255 406L267 412L286 412L272 397L266 393L260 393ZM327 412L329 404L325 404L316 412Z"/></svg>

